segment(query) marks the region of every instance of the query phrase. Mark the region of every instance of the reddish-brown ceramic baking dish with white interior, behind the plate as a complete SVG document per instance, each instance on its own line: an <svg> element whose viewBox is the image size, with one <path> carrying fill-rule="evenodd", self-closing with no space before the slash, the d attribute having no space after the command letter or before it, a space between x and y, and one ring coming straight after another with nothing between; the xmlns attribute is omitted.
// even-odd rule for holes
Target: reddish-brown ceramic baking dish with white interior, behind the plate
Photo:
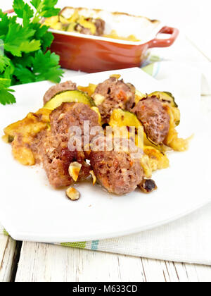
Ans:
<svg viewBox="0 0 211 296"><path fill-rule="evenodd" d="M121 37L134 35L141 41L132 42L50 29L54 36L51 51L60 56L60 65L63 68L94 73L139 67L146 61L148 49L170 47L179 34L179 30L164 26L159 20L150 20L127 13L65 7L60 14L70 18L76 9L80 15L87 18L103 19L106 22L106 35L110 35L110 32L115 30ZM159 34L167 34L170 37L159 39L157 37Z"/></svg>

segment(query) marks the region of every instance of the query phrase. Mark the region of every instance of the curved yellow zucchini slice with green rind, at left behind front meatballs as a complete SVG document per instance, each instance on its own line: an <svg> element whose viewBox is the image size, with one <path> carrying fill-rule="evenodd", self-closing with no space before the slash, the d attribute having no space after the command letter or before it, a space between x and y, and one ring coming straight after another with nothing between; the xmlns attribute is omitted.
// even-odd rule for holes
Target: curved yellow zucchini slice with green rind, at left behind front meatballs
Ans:
<svg viewBox="0 0 211 296"><path fill-rule="evenodd" d="M63 103L83 103L89 106L96 106L93 99L79 90L67 90L65 92L60 92L56 94L50 101L44 105L44 109L54 110L58 108Z"/></svg>

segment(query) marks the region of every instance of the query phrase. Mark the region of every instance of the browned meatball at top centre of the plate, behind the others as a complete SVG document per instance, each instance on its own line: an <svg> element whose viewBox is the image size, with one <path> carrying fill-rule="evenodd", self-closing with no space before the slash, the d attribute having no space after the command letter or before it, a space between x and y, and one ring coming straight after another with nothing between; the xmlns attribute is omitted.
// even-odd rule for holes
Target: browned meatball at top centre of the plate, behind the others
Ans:
<svg viewBox="0 0 211 296"><path fill-rule="evenodd" d="M103 102L98 106L103 123L108 123L114 109L129 109L134 103L135 90L132 85L127 85L123 80L109 78L100 83L93 94L103 96Z"/></svg>

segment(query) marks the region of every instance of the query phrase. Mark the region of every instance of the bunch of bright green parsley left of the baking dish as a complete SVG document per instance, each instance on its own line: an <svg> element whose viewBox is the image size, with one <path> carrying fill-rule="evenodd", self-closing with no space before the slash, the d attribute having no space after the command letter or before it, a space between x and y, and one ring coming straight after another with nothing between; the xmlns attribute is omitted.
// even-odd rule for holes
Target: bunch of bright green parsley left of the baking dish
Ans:
<svg viewBox="0 0 211 296"><path fill-rule="evenodd" d="M13 104L11 85L50 80L60 82L59 56L47 50L53 42L41 18L58 15L58 0L13 1L15 16L0 9L0 104ZM20 25L19 19L22 19Z"/></svg>

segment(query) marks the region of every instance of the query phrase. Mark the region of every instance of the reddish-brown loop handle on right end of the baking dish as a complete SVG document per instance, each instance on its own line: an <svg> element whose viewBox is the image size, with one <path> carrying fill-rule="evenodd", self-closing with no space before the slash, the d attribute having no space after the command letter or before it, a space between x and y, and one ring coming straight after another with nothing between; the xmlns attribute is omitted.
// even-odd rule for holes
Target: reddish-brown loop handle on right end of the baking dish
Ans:
<svg viewBox="0 0 211 296"><path fill-rule="evenodd" d="M168 39L155 38L148 42L149 48L153 47L170 47L179 35L179 30L175 27L162 27L158 34L170 34L171 37Z"/></svg>

